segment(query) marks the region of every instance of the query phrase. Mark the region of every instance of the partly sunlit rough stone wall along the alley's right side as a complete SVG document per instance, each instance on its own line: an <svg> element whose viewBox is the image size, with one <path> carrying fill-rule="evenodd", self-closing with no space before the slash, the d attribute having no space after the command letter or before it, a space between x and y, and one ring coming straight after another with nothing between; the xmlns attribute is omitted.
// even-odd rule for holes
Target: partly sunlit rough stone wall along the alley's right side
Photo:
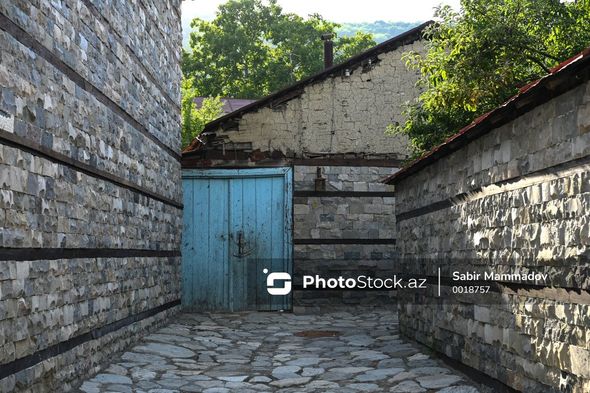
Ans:
<svg viewBox="0 0 590 393"><path fill-rule="evenodd" d="M404 334L520 391L590 391L589 131L585 83L396 185L403 268L443 282L401 291ZM455 271L548 278L454 296Z"/></svg>

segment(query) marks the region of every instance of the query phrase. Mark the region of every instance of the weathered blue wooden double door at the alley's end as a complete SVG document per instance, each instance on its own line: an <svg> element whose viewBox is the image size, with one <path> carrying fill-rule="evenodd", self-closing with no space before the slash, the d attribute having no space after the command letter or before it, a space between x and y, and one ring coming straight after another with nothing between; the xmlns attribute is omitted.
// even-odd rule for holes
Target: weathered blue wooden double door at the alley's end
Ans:
<svg viewBox="0 0 590 393"><path fill-rule="evenodd" d="M267 278L292 274L291 168L191 169L182 182L184 308L290 310Z"/></svg>

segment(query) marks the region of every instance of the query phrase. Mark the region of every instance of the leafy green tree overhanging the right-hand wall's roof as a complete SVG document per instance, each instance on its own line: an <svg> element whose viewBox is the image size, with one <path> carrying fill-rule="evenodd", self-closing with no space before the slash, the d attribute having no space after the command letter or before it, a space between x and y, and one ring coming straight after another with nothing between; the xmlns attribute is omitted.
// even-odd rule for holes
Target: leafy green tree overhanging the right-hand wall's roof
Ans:
<svg viewBox="0 0 590 393"><path fill-rule="evenodd" d="M427 52L405 54L422 93L388 127L409 136L415 156L590 45L590 0L462 0L436 16Z"/></svg>

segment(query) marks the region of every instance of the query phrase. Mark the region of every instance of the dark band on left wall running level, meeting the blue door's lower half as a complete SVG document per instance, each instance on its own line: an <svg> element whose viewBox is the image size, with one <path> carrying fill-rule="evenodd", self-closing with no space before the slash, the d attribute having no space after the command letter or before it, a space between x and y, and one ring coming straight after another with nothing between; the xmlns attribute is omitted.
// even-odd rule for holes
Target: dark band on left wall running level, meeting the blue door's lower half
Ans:
<svg viewBox="0 0 590 393"><path fill-rule="evenodd" d="M0 247L0 261L36 261L42 259L76 258L168 258L179 256L179 250Z"/></svg>

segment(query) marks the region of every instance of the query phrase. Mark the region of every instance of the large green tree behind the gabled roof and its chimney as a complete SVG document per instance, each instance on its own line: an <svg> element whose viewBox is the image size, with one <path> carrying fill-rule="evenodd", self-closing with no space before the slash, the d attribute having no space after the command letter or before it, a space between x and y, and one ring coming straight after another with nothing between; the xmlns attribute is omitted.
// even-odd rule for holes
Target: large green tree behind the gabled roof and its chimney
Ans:
<svg viewBox="0 0 590 393"><path fill-rule="evenodd" d="M320 15L283 13L276 0L230 0L212 21L194 19L182 71L204 96L260 98L323 67L323 33L336 23ZM335 62L375 45L370 34L336 38Z"/></svg>

